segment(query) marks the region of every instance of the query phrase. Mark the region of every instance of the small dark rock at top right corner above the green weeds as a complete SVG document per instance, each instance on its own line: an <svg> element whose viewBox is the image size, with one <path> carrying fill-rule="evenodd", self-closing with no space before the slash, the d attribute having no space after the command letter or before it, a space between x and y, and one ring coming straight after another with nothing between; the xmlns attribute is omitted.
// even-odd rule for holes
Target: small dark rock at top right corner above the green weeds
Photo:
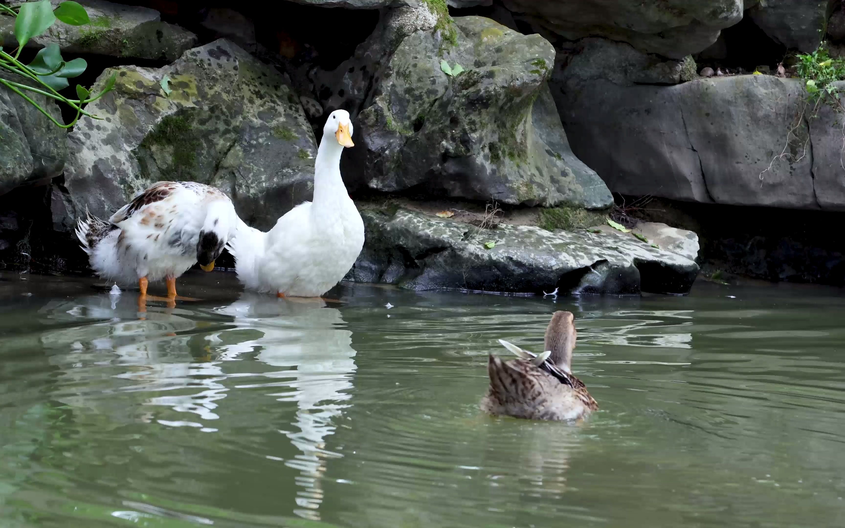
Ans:
<svg viewBox="0 0 845 528"><path fill-rule="evenodd" d="M819 46L830 4L828 0L766 0L746 13L773 41L809 53Z"/></svg>

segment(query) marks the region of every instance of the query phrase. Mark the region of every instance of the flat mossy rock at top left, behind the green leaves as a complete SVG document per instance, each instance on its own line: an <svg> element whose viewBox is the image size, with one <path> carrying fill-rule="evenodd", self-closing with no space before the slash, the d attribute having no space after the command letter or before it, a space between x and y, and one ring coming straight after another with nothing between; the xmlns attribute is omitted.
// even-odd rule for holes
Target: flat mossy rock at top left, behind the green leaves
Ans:
<svg viewBox="0 0 845 528"><path fill-rule="evenodd" d="M54 7L61 2L52 0ZM55 42L68 53L172 62L197 43L194 33L161 22L161 15L155 9L104 0L79 0L79 3L88 12L90 24L75 26L57 20L44 35L31 39L26 46L41 48ZM14 20L12 17L0 17L0 36L7 46L15 42Z"/></svg>

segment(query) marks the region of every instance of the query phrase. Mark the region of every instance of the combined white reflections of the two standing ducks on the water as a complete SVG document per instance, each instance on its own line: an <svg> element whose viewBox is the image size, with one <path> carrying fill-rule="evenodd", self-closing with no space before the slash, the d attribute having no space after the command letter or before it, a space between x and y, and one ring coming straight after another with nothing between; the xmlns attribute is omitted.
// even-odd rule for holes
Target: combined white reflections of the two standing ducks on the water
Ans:
<svg viewBox="0 0 845 528"><path fill-rule="evenodd" d="M132 296L115 297L79 297L41 308L52 324L56 320L77 324L41 334L43 346L56 351L50 361L60 368L53 397L92 416L108 416L113 424L157 422L214 433L226 424L231 428L240 423L237 411L226 414L224 402L233 390L272 388L275 392L268 395L297 406L292 427L286 427L290 430L280 430L300 451L285 460L300 471L296 483L303 489L297 492L294 511L319 520L320 478L327 460L342 456L325 449L324 438L335 432L333 422L350 405L356 370L352 332L342 328L340 310L326 308L323 301L243 293L237 302L212 310L232 318L226 324L235 328L202 335L206 323L188 309L150 307L146 320L139 320ZM198 340L206 346L198 345ZM215 360L197 362L188 355L200 348L213 353ZM248 361L252 354L275 370L226 373L226 362ZM115 378L128 384L115 384ZM232 384L246 378L249 383ZM116 393L123 397L107 396ZM128 394L141 398L127 400ZM189 416L166 419L172 416L159 417L161 412L150 407Z"/></svg>

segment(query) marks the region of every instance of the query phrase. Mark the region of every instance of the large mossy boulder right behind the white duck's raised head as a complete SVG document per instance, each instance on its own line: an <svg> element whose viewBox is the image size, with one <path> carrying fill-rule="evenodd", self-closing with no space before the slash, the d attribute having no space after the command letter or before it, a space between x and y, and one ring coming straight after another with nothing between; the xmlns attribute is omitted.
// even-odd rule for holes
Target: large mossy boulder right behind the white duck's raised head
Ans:
<svg viewBox="0 0 845 528"><path fill-rule="evenodd" d="M368 186L424 184L450 197L506 204L612 204L604 182L572 155L554 111L548 41L482 17L455 25L456 46L417 30L386 62L357 122ZM465 71L450 77L441 57Z"/></svg>

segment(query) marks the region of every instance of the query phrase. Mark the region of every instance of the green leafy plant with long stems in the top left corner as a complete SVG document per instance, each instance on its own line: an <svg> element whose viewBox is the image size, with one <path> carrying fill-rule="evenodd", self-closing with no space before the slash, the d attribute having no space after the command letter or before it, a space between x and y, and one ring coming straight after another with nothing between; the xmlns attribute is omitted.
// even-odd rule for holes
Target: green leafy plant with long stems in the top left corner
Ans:
<svg viewBox="0 0 845 528"><path fill-rule="evenodd" d="M68 87L68 79L79 77L79 75L85 72L85 68L88 67L85 59L74 58L72 61L65 61L58 45L52 43L42 48L35 55L35 59L29 64L21 63L18 60L20 52L24 49L26 43L30 39L46 33L46 30L49 30L52 24L56 23L56 20L61 20L65 24L70 25L90 24L90 19L85 8L76 2L63 2L57 8L53 9L50 0L41 0L40 2L22 3L16 8L9 8L6 5L0 4L0 15L15 18L14 36L18 41L18 47L12 52L6 52L3 50L3 47L0 47L0 68L9 73L14 73L14 75L29 81L30 84L35 84L35 86L3 78L0 78L0 84L23 97L25 101L35 106L35 108L58 127L73 127L81 116L101 119L101 117L96 117L89 112L85 112L82 106L100 99L107 92L111 91L117 80L117 73L112 73L112 76L106 80L106 84L100 94L92 97L85 87L77 84L76 95L79 99L68 99L68 97L59 94L58 90ZM64 102L76 111L74 120L68 124L58 122L41 105L33 101L29 95L26 95L25 91L35 92L36 94L44 95L56 101Z"/></svg>

